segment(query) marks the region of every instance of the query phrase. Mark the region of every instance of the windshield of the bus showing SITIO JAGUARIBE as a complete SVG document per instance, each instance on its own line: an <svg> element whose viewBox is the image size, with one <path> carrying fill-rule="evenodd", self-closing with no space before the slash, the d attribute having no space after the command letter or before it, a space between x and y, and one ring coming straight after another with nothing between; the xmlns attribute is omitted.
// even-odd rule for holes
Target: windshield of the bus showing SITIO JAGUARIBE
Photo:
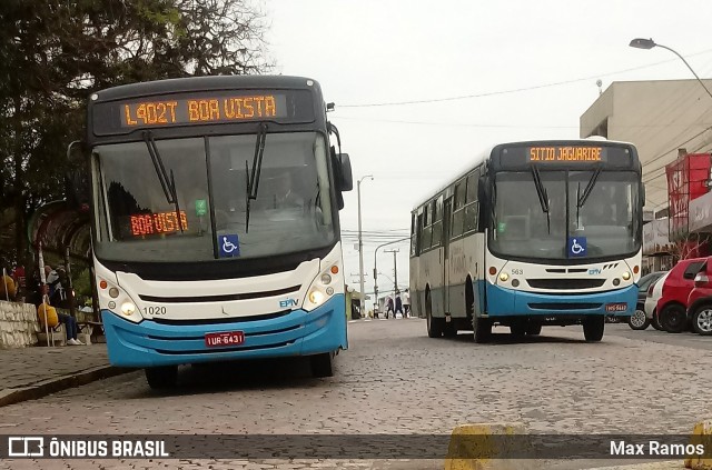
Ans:
<svg viewBox="0 0 712 470"><path fill-rule="evenodd" d="M497 173L490 231L492 252L503 258L547 260L591 260L637 252L641 240L636 174L595 173L541 171L540 191L530 171ZM582 194L590 184L584 200ZM538 192L547 197L547 212L542 209ZM585 242L585 250L576 256L570 253L571 238Z"/></svg>

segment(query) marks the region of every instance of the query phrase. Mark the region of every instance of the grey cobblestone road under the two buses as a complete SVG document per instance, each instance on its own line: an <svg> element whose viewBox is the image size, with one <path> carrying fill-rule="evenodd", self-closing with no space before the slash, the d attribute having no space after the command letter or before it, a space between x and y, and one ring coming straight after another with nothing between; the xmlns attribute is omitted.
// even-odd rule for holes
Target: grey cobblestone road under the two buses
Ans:
<svg viewBox="0 0 712 470"><path fill-rule="evenodd" d="M428 339L424 321L349 324L337 373L313 379L303 361L186 368L180 387L158 394L140 372L6 407L1 433L449 433L461 423L522 422L537 433L689 433L712 417L712 338L665 337L609 324L586 343L580 327L548 327L492 344L472 333ZM684 341L688 338L690 346ZM710 343L708 343L708 341ZM682 343L680 343L682 342ZM684 343L684 346L683 346ZM659 357L664 367L651 358ZM245 462L71 461L71 468L442 468L442 461ZM624 463L596 462L601 466ZM589 468L564 462L552 469ZM59 461L0 461L0 468L67 468Z"/></svg>

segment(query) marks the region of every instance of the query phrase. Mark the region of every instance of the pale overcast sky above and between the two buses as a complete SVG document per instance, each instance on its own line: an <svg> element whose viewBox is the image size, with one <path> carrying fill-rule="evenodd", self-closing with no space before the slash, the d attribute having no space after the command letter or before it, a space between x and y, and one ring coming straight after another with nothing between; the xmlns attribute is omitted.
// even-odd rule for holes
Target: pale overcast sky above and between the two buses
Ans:
<svg viewBox="0 0 712 470"><path fill-rule="evenodd" d="M364 271L407 237L414 206L488 146L578 138L578 118L612 81L712 77L712 1L256 0L277 73L322 84L362 183ZM368 106L443 100L400 106ZM635 142L634 142L635 143ZM346 282L358 288L356 188L342 211ZM385 233L377 236L374 232ZM386 236L390 238L386 238ZM378 250L379 290L408 283L408 243ZM354 274L354 276L352 276ZM390 280L388 280L388 278ZM368 303L370 306L370 303Z"/></svg>

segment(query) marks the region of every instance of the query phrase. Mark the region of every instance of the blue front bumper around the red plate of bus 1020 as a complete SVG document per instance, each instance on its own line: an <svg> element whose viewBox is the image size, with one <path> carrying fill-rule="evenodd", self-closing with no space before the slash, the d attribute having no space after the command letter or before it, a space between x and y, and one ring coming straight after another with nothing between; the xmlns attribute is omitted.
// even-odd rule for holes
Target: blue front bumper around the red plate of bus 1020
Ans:
<svg viewBox="0 0 712 470"><path fill-rule="evenodd" d="M134 323L102 310L109 362L120 367L177 366L236 359L310 356L347 349L345 298L334 296L306 312L293 310L281 317L199 324ZM206 333L241 331L239 346L207 347Z"/></svg>

